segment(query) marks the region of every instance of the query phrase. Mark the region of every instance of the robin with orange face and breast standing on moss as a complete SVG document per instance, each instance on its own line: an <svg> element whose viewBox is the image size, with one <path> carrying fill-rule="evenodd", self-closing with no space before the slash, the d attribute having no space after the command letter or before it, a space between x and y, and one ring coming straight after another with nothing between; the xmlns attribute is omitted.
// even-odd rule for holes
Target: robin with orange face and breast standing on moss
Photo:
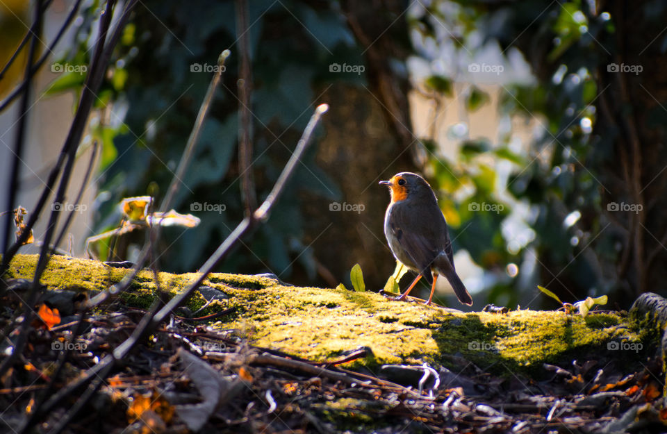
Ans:
<svg viewBox="0 0 667 434"><path fill-rule="evenodd" d="M454 269L452 242L447 232L445 216L438 207L436 194L424 178L411 172L396 174L389 181L380 181L390 189L391 203L384 215L384 235L397 260L418 273L403 300L424 277L431 284L431 304L436 280L442 274L450 282L459 301L468 306L472 298Z"/></svg>

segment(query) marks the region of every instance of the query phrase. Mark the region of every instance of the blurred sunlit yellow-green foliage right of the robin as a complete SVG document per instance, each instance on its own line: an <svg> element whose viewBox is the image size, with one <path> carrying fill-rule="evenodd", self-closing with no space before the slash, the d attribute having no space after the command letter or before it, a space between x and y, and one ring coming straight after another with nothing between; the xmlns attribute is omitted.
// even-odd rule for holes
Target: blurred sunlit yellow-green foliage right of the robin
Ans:
<svg viewBox="0 0 667 434"><path fill-rule="evenodd" d="M445 215L450 217L448 222L454 223L452 237L488 270L489 301L509 302L510 306L523 301L525 306L539 294L535 289L538 283L549 285L561 297L573 301L587 295L614 294L616 301L627 302L647 289L636 276L647 274L648 267L656 266L658 261L633 263L638 254L634 252L626 253L631 264L628 269L619 265L624 251L633 249L634 216L612 217L607 204L623 200L632 203L633 199L636 203L638 199L629 197L627 174L623 179L618 165L614 167L625 146L623 131L598 124L604 100L600 96L608 86L600 83L611 71L612 61L625 60L632 65L633 56L635 62L639 57L639 51L627 53L618 42L639 40L634 26L645 26L646 30L641 35L645 42L639 47L647 50L651 45L648 42L657 38L652 51L665 53L667 36L658 31L663 27L667 5L656 1L642 2L636 8L626 2L616 5L616 10L624 8L630 15L595 10L595 2L586 1L436 1L413 19L421 47L454 47L454 58L447 59L451 64L467 58L468 65L472 65L477 53L497 47L497 52L502 53L504 73L508 72L511 55L516 54L513 51L518 51L534 76L532 81L513 82L511 78L503 79L505 74L498 74L493 83L501 94L500 115L508 119L523 117L538 127L526 151L511 147L511 131L501 135L500 140L494 137L488 141L463 141L460 165L442 158L436 144L431 143L429 149L429 165L442 192ZM632 33L617 35L618 22L629 19L634 20ZM431 65L437 65L439 51L431 55L423 49L421 54ZM459 67L465 69L468 65L463 61ZM440 69L434 68L434 76L427 78L426 87L451 97L450 83L461 71L456 67L450 71L451 76L443 76ZM649 86L650 76L643 77L648 77L644 85ZM628 79L631 85L633 81L635 85L641 83L639 80L636 76ZM612 79L609 82L614 83ZM468 110L476 110L487 102L488 97L474 87L468 91ZM630 102L611 99L609 106L626 116L641 116L638 107ZM664 110L659 107L650 113L656 111L664 118ZM645 149L651 145L643 144ZM648 187L647 181L657 178L664 165L664 151L653 155L660 156L654 160L656 167L641 167L643 173L639 176L645 179L640 187ZM512 163L507 180L497 176L502 160ZM456 215L456 207L447 198L461 197L462 192L466 199L460 201L460 215ZM507 197L507 193L511 200L502 202L503 210L495 212L499 208L493 205L501 203L500 197ZM472 209L471 204L479 203L491 206L467 212ZM513 208L521 210L521 222L532 230L532 239L517 242L517 231L507 227ZM656 218L655 222L664 221L656 214L642 218L645 222ZM658 240L660 232L656 231L653 237ZM660 246L652 249L664 258ZM520 269L514 280L504 273L504 265L510 262ZM530 269L534 271L531 273Z"/></svg>

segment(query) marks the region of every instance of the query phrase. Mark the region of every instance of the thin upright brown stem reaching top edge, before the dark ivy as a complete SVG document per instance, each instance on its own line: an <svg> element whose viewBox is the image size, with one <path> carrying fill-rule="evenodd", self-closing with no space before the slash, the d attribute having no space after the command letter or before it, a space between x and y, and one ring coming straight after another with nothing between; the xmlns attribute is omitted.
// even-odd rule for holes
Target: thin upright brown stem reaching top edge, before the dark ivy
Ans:
<svg viewBox="0 0 667 434"><path fill-rule="evenodd" d="M236 1L236 37L240 47L238 85L238 171L241 174L241 198L248 217L257 208L257 197L252 176L252 69L250 68L248 2Z"/></svg>

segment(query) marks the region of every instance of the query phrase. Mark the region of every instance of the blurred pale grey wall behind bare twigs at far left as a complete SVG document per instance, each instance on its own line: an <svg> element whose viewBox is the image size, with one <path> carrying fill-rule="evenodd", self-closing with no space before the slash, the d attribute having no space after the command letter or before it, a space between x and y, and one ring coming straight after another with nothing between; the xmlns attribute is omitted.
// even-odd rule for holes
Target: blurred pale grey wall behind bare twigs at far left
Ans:
<svg viewBox="0 0 667 434"><path fill-rule="evenodd" d="M54 0L52 6L49 8L44 25L44 35L40 38L41 51L44 53L48 50L49 43L53 40L58 32L61 24L64 22L67 13L72 8L72 1ZM31 12L32 13L32 12ZM24 22L27 28L30 25L31 19ZM0 29L0 34L2 33ZM30 110L28 113L28 123L26 128L26 138L24 142L24 151L22 155L22 162L20 167L20 185L17 204L23 206L31 212L38 201L38 197L44 189L49 170L53 167L58 158L60 150L65 143L65 137L69 124L71 124L74 115L74 94L60 94L56 97L44 96L44 90L47 89L49 83L53 81L58 74L51 72L51 64L58 59L62 52L62 47L67 47L69 41L72 40L71 32L63 36L62 40L56 47L54 53L44 64L40 73L35 78L33 91L30 100ZM25 48L27 50L27 46ZM4 65L4 62L2 62ZM1 66L3 66L1 65ZM19 100L13 103L7 110L0 113L0 211L6 211L9 178L11 173L11 165L13 162L13 151L15 147L15 137L17 133L17 116L19 111ZM83 177L85 169L90 160L89 147L87 151L81 152L81 155L76 161L74 174L69 181L67 190L67 201L74 201ZM98 153L99 155L99 153ZM92 174L92 181L94 181L95 171ZM49 198L48 212L51 212L51 201L56 192L56 187L53 188L53 193ZM81 203L86 206L83 212L76 212L68 232L72 234L72 249L76 256L83 256L83 246L85 237L89 236L92 227L92 208L90 204L95 196L94 182L89 184L85 190ZM46 221L48 214L44 214L40 222L33 231L35 238L42 240L44 231L46 229ZM58 222L62 224L65 221L65 213L63 212ZM1 220L0 220L1 221ZM2 226L3 227L3 226ZM60 228L60 226L58 226ZM1 232L1 231L0 231ZM14 229L13 229L14 232ZM0 245L3 233L0 233ZM11 235L11 241L14 240L14 235ZM69 237L60 243L60 248L69 250ZM22 253L35 253L37 249L34 246L22 247Z"/></svg>

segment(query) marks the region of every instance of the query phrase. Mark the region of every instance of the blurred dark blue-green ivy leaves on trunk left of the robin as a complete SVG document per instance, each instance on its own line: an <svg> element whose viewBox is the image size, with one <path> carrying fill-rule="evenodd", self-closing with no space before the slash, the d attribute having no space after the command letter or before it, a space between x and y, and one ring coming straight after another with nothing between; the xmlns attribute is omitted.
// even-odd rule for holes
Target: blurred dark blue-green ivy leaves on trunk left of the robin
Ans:
<svg viewBox="0 0 667 434"><path fill-rule="evenodd" d="M77 29L80 41L69 60L88 56L91 24L99 2L83 10ZM336 3L250 1L249 55L254 92L254 176L263 199L277 180L291 150L320 101L323 83L365 84L363 74L330 71L334 62L363 64L361 49ZM217 57L231 49L211 113L201 131L195 156L174 208L201 217L188 231L167 229L160 250L165 269L196 269L242 219L238 140L238 62L233 2L195 3L148 1L133 12L115 62L98 101L94 138L102 144L97 199L97 232L113 228L123 197L146 194L149 185L165 191L204 97ZM80 76L61 76L54 91L74 88ZM319 90L319 91L318 91ZM113 106L109 103L113 102ZM321 135L321 134L320 134ZM302 241L304 215L299 193L308 191L337 199L331 181L312 162L313 152L290 181L290 191L251 241L224 263L234 272L275 272L290 276L295 263L311 278L315 265ZM224 212L206 211L211 205ZM201 209L201 211L200 211ZM202 240L204 242L202 242Z"/></svg>

